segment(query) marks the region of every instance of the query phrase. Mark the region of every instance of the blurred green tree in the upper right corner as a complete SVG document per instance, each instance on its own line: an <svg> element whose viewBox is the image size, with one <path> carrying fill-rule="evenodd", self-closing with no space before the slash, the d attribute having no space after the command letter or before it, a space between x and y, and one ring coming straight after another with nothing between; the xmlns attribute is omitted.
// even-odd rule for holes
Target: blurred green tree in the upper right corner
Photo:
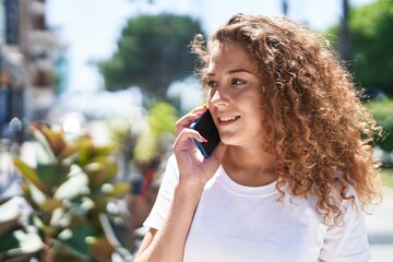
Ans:
<svg viewBox="0 0 393 262"><path fill-rule="evenodd" d="M393 0L377 0L349 11L350 69L364 87L379 87L393 95ZM337 47L340 26L329 29Z"/></svg>

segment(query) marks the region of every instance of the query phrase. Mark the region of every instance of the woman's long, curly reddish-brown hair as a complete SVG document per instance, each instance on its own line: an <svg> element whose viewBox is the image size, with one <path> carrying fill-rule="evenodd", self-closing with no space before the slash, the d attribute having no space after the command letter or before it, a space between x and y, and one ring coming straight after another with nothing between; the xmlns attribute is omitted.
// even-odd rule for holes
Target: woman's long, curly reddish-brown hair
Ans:
<svg viewBox="0 0 393 262"><path fill-rule="evenodd" d="M251 56L261 83L264 147L277 158L282 196L283 187L294 196L315 195L324 221L336 223L342 202L355 203L355 192L362 206L379 195L370 143L380 128L327 41L284 16L236 14L207 44L201 35L191 44L202 78L217 41L241 44Z"/></svg>

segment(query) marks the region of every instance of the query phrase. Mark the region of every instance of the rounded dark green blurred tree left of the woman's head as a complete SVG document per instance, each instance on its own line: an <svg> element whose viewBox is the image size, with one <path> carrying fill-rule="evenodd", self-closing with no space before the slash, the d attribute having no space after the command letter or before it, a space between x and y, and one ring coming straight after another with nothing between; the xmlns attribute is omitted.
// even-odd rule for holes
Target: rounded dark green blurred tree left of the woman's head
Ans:
<svg viewBox="0 0 393 262"><path fill-rule="evenodd" d="M193 56L188 45L202 33L200 22L175 14L140 15L123 27L114 56L98 63L108 91L138 85L165 98L168 85L190 75Z"/></svg>

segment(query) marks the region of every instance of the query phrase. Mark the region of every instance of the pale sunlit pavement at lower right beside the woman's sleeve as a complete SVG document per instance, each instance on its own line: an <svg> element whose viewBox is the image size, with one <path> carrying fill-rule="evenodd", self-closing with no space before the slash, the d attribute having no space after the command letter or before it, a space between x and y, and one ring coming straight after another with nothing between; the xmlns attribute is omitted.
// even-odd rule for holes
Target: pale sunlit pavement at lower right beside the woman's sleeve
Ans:
<svg viewBox="0 0 393 262"><path fill-rule="evenodd" d="M393 262L393 190L385 189L383 200L366 217L371 247L371 262Z"/></svg>

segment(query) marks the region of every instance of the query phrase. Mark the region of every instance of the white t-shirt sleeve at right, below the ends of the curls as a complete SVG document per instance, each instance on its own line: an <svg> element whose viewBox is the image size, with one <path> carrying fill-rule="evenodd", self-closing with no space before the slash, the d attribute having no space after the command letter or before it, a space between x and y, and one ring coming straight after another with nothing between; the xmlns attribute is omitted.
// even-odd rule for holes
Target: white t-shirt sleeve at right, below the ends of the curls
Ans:
<svg viewBox="0 0 393 262"><path fill-rule="evenodd" d="M327 228L320 259L326 262L370 261L365 213L360 203L353 205L345 201L344 210L344 225Z"/></svg>

